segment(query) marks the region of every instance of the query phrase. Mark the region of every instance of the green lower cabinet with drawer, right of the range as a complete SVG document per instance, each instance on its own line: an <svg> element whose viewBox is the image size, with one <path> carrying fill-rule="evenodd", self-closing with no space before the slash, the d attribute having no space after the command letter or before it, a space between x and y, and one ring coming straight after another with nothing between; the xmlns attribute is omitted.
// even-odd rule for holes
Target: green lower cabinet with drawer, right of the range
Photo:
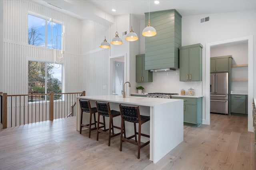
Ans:
<svg viewBox="0 0 256 170"><path fill-rule="evenodd" d="M198 127L202 125L202 97L178 97L172 96L172 99L184 100L184 125Z"/></svg>

